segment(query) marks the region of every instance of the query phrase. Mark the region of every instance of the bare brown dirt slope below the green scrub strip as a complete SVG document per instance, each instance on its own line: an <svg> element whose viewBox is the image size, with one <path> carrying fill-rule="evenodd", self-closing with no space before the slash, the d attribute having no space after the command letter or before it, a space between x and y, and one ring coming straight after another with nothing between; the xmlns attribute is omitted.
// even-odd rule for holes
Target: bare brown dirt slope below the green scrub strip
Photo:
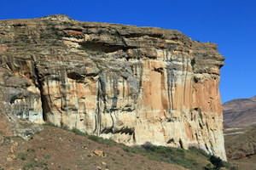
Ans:
<svg viewBox="0 0 256 170"><path fill-rule="evenodd" d="M104 156L96 156L93 153L95 150L102 150ZM4 170L186 169L167 162L150 160L140 154L127 153L119 144L98 144L84 136L49 126L32 135L28 141L18 137L4 138L0 145L0 169L1 167Z"/></svg>

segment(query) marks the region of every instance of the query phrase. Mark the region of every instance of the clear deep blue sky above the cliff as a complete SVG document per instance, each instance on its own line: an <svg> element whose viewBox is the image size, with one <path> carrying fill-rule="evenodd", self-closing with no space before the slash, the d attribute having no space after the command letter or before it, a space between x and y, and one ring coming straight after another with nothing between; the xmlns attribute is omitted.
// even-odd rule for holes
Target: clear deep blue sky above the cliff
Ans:
<svg viewBox="0 0 256 170"><path fill-rule="evenodd" d="M0 6L0 20L49 14L161 27L215 42L226 58L221 68L222 102L256 95L256 0L7 0Z"/></svg>

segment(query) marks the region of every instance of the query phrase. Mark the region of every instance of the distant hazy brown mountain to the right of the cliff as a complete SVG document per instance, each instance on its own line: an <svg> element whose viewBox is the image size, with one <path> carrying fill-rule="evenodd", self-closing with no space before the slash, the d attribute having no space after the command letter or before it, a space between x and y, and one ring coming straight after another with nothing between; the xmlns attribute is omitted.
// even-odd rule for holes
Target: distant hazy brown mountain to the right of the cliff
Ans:
<svg viewBox="0 0 256 170"><path fill-rule="evenodd" d="M256 96L232 99L223 105L224 127L256 127Z"/></svg>

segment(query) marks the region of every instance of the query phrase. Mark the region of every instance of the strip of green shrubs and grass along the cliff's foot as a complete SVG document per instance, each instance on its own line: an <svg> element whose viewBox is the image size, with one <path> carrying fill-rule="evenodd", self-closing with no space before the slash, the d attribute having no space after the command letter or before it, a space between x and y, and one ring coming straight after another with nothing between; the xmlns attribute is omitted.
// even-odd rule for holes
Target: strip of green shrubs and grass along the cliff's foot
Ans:
<svg viewBox="0 0 256 170"><path fill-rule="evenodd" d="M51 124L51 126L54 126ZM64 127L67 129L67 127ZM156 146L147 142L141 146L127 146L125 144L119 144L112 139L103 139L95 135L89 135L87 133L82 133L77 128L72 128L70 131L76 135L87 137L99 144L105 144L108 147L119 146L126 152L127 156L135 156L136 154L141 154L143 156L148 156L149 159L156 161L164 161L172 164L176 164L181 167L188 169L220 169L220 167L225 167L226 169L236 169L231 167L229 162L222 161L217 156L211 156L207 154L206 151L198 149L196 147L190 147L189 150L184 150L180 148L172 148L167 146ZM118 151L119 153L119 151ZM119 153L120 156L124 154Z"/></svg>

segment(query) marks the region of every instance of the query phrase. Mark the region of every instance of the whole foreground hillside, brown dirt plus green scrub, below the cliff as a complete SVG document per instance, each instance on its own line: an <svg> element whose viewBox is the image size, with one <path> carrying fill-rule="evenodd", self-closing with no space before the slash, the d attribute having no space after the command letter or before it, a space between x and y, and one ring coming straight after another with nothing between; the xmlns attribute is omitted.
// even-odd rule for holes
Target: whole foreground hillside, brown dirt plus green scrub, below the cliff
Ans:
<svg viewBox="0 0 256 170"><path fill-rule="evenodd" d="M11 144L19 143L15 153ZM202 150L166 148L152 144L128 147L113 140L45 126L28 141L5 138L0 146L0 169L204 169L212 167L209 156ZM96 156L102 150L107 156ZM9 161L7 161L9 160ZM177 164L177 165L174 165ZM182 166L182 167L180 167ZM185 167L185 168L184 168Z"/></svg>

